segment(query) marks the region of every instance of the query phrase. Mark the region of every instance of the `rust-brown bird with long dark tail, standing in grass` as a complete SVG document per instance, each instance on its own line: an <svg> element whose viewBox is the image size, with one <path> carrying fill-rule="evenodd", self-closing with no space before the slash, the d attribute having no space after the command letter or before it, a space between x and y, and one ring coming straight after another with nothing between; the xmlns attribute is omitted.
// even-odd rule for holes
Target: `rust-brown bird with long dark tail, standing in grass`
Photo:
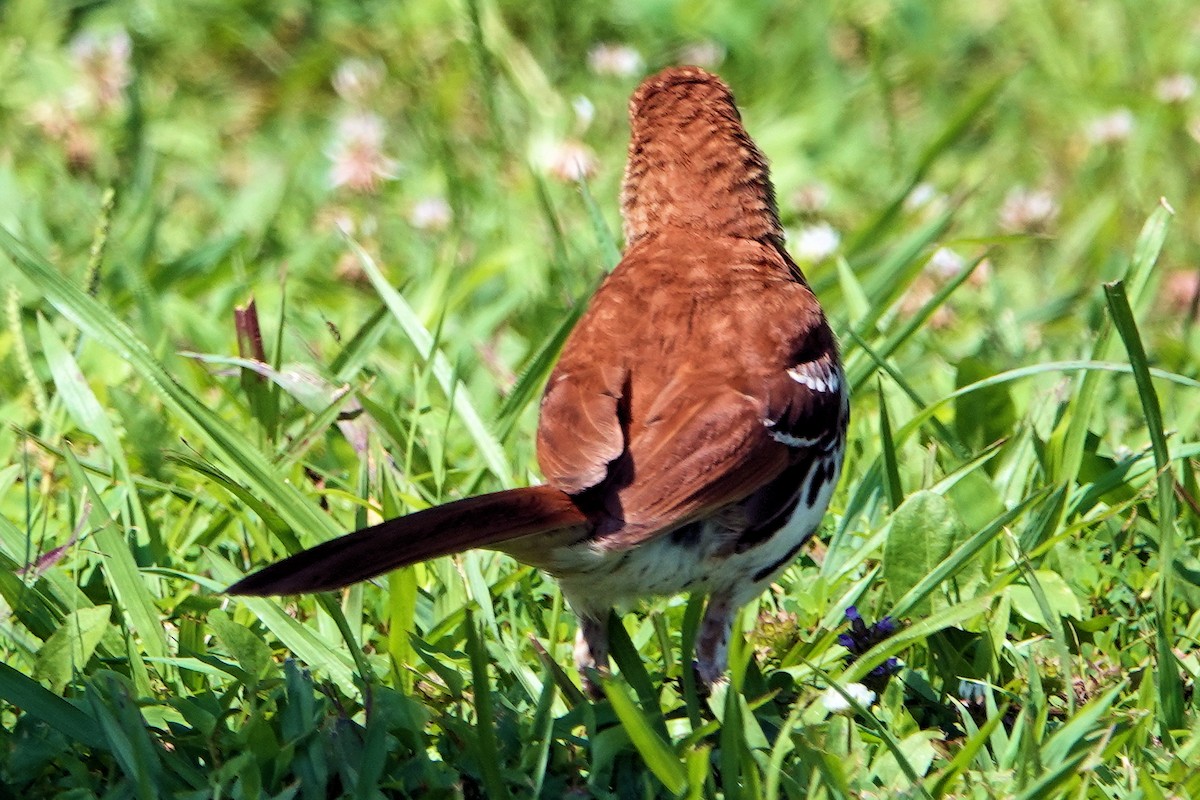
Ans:
<svg viewBox="0 0 1200 800"><path fill-rule="evenodd" d="M706 596L694 669L707 688L724 679L734 615L824 517L850 392L726 83L666 68L632 94L629 119L624 251L547 379L544 482L326 541L230 594L332 590L493 549L557 579L590 694L602 694L612 610L652 596Z"/></svg>

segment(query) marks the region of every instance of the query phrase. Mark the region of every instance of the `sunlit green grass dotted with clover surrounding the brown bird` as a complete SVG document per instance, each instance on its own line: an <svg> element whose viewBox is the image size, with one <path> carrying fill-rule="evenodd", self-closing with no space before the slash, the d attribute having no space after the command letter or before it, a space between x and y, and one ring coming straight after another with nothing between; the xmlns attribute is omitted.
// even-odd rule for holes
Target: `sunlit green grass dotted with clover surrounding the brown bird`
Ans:
<svg viewBox="0 0 1200 800"><path fill-rule="evenodd" d="M0 796L1200 796L1200 97L1158 86L1200 76L1200 13L976 5L0 10ZM104 94L78 42L114 30ZM590 70L602 42L644 68ZM701 607L662 599L584 699L553 583L490 553L224 597L534 480L619 249L628 95L696 42L792 243L840 233L806 271L854 389L730 685L697 693ZM344 97L350 58L380 79ZM361 193L329 182L356 108L396 162ZM586 185L546 168L564 139ZM1015 218L1021 186L1056 212ZM852 604L901 620L854 661Z"/></svg>

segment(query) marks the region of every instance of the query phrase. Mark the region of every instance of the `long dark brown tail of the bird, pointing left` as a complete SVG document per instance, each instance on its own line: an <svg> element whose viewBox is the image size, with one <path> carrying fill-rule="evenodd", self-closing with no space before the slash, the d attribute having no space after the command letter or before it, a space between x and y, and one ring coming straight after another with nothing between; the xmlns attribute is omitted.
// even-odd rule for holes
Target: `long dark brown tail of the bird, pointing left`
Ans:
<svg viewBox="0 0 1200 800"><path fill-rule="evenodd" d="M338 589L439 555L587 522L569 495L548 486L481 494L301 551L242 578L228 591L293 595Z"/></svg>

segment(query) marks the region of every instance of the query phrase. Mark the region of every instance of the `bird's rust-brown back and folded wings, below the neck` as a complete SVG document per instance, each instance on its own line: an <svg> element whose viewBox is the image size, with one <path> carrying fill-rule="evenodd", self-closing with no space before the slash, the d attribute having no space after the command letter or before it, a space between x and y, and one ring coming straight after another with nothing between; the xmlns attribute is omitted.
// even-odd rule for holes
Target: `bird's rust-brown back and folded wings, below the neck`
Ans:
<svg viewBox="0 0 1200 800"><path fill-rule="evenodd" d="M696 279L716 265L738 273L728 290ZM798 270L776 247L696 251L661 236L606 279L551 377L538 431L547 482L587 493L596 545L634 547L737 503L832 439L845 408L836 343L788 273Z"/></svg>

